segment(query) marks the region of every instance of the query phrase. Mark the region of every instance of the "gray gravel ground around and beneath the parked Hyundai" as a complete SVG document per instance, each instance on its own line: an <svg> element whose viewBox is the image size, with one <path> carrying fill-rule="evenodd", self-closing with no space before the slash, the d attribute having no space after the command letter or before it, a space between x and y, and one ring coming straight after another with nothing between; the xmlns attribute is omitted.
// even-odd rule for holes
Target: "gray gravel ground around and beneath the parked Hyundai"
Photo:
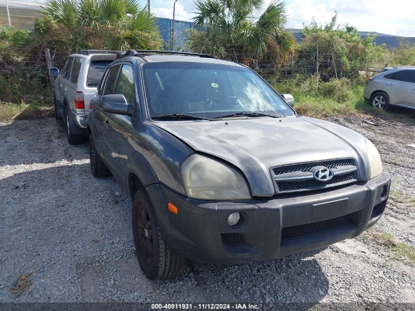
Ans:
<svg viewBox="0 0 415 311"><path fill-rule="evenodd" d="M415 122L332 117L379 148L395 189L375 226L415 246ZM0 124L0 302L415 302L413 262L375 242L346 240L271 262L191 262L179 277L147 280L138 267L131 201L95 179L86 144L54 119ZM16 296L22 273L33 286Z"/></svg>

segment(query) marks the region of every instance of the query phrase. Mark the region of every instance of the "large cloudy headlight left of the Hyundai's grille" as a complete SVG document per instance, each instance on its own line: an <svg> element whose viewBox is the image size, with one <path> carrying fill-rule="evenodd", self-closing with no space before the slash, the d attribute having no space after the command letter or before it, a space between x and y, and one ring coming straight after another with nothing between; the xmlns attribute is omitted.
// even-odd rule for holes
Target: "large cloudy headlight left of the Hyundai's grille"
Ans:
<svg viewBox="0 0 415 311"><path fill-rule="evenodd" d="M245 178L232 167L200 154L193 154L182 164L186 193L202 200L250 199Z"/></svg>

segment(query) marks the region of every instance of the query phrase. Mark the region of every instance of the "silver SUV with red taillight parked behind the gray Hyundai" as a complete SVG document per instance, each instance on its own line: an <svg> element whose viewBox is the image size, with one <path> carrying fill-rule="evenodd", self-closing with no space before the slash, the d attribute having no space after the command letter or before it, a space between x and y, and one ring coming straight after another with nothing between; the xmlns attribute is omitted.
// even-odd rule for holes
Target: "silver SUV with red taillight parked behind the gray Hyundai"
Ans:
<svg viewBox="0 0 415 311"><path fill-rule="evenodd" d="M62 72L49 69L55 76L55 117L63 119L70 144L84 141L89 102L117 51L81 50L66 58Z"/></svg>

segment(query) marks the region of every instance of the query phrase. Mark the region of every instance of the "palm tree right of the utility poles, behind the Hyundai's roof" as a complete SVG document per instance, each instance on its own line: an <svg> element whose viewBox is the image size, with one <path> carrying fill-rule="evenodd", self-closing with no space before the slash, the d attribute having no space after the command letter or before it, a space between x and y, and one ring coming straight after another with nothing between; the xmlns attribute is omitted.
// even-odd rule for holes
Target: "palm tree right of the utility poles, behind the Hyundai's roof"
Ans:
<svg viewBox="0 0 415 311"><path fill-rule="evenodd" d="M286 34L285 3L273 1L264 8L264 0L195 0L199 14L197 26L206 28L208 42L218 42L213 52L225 49L236 60L250 56L254 63L269 52L270 40ZM262 13L261 13L262 12ZM203 52L203 51L200 51ZM206 51L208 52L208 51Z"/></svg>

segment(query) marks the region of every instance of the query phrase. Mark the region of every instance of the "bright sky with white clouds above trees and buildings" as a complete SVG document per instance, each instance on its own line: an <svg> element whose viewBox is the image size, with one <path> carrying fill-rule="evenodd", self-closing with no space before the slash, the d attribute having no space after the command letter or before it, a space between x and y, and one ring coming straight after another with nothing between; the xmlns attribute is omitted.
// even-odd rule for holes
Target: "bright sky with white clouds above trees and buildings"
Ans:
<svg viewBox="0 0 415 311"><path fill-rule="evenodd" d="M0 6L5 0L0 0ZM39 0L9 0L10 2ZM139 0L142 5L147 0ZM174 0L150 0L151 11L157 17L173 17ZM264 0L265 6L272 0ZM315 19L319 24L329 23L334 11L337 22L349 24L362 31L377 31L415 37L415 0L285 0L288 22L286 28L302 28ZM175 19L191 21L195 16L193 0L176 2Z"/></svg>

